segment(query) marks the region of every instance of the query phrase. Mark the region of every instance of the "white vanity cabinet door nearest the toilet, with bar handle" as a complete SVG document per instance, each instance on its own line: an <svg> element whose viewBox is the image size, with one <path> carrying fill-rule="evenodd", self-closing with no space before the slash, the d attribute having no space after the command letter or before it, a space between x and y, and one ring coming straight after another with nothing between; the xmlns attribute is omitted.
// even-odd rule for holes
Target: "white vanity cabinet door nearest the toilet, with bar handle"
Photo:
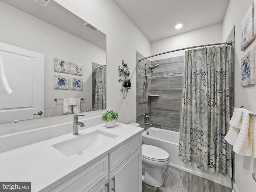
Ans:
<svg viewBox="0 0 256 192"><path fill-rule="evenodd" d="M141 146L110 172L109 182L112 192L142 191Z"/></svg>

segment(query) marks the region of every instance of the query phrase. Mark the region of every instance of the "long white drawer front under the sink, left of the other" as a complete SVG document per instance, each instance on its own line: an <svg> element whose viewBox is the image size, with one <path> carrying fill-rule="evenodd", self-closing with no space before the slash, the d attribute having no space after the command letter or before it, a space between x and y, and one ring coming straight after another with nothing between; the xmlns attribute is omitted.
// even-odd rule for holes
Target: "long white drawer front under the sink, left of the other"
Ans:
<svg viewBox="0 0 256 192"><path fill-rule="evenodd" d="M51 192L81 192L92 188L99 180L108 175L108 155L82 170Z"/></svg>

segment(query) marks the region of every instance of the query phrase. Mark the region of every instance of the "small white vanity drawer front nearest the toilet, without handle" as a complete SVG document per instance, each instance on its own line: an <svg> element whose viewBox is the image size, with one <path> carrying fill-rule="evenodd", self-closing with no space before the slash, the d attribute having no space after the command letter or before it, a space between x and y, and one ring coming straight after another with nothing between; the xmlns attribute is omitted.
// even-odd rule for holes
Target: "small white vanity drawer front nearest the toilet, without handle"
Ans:
<svg viewBox="0 0 256 192"><path fill-rule="evenodd" d="M116 168L122 161L124 161L132 152L141 146L141 134L132 138L119 148L110 152L109 154L109 172Z"/></svg>

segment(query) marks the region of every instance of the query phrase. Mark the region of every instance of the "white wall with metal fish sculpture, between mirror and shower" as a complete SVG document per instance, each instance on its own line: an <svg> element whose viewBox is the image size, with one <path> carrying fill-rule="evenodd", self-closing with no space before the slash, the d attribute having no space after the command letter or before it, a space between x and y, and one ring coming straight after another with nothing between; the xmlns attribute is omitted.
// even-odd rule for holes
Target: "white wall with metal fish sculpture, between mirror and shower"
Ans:
<svg viewBox="0 0 256 192"><path fill-rule="evenodd" d="M112 0L56 0L107 36L107 109L119 113L118 122L136 122L136 50L150 55L150 42ZM123 98L118 66L128 64L132 87Z"/></svg>

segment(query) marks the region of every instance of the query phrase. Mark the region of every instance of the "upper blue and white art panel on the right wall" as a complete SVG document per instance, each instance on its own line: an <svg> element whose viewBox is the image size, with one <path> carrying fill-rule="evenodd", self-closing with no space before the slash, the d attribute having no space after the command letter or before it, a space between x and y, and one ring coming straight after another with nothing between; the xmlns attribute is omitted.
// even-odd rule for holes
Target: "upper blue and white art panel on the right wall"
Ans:
<svg viewBox="0 0 256 192"><path fill-rule="evenodd" d="M242 20L241 51L255 39L254 36L254 3L250 6Z"/></svg>

